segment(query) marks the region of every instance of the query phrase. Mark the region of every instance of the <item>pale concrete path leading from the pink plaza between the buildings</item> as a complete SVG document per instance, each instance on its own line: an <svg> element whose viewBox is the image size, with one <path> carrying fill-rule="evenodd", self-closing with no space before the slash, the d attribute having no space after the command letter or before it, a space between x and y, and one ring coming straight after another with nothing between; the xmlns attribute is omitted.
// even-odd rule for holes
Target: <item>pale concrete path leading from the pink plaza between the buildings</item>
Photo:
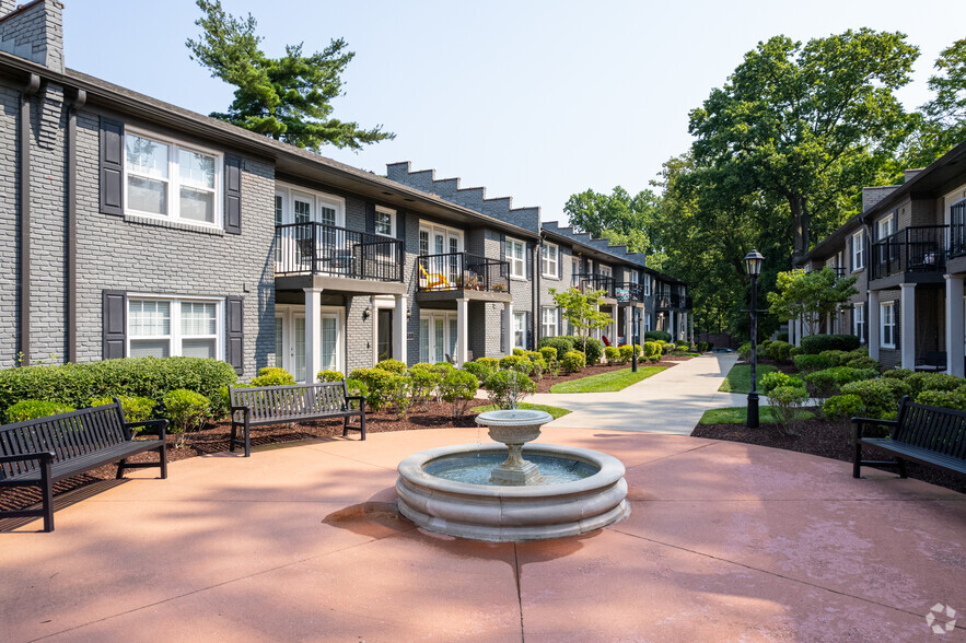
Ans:
<svg viewBox="0 0 966 643"><path fill-rule="evenodd" d="M737 361L711 353L680 362L615 393L538 393L526 401L562 407L571 413L547 426L690 435L708 409L736 406L718 387Z"/></svg>

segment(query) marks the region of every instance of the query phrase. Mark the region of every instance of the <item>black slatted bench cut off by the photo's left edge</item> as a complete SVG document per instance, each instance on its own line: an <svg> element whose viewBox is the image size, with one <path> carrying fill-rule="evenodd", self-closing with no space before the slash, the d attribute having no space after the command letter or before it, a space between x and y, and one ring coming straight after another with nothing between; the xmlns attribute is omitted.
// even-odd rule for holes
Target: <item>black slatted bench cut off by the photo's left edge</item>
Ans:
<svg viewBox="0 0 966 643"><path fill-rule="evenodd" d="M131 429L156 429L158 440L133 440ZM0 518L44 518L44 530L54 530L54 483L91 469L117 463L117 479L125 469L160 467L167 478L165 429L167 420L126 422L120 401L92 409L0 426L0 488L38 487L43 506L0 511ZM128 463L132 455L156 451L158 461Z"/></svg>

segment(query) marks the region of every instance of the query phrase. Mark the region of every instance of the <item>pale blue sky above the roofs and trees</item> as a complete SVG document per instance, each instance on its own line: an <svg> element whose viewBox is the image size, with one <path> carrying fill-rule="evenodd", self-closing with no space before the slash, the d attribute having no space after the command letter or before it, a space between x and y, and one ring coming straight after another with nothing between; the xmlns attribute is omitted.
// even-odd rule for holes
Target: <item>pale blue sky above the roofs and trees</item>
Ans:
<svg viewBox="0 0 966 643"><path fill-rule="evenodd" d="M396 138L326 156L383 175L386 163L410 161L514 207L539 206L544 221L566 220L567 199L589 188L650 187L688 150L688 113L760 40L900 31L921 52L899 92L915 108L930 97L940 51L966 37L963 0L222 4L257 19L270 56L339 37L356 52L333 115ZM201 114L225 109L232 87L185 46L199 15L194 0L68 1L67 66Z"/></svg>

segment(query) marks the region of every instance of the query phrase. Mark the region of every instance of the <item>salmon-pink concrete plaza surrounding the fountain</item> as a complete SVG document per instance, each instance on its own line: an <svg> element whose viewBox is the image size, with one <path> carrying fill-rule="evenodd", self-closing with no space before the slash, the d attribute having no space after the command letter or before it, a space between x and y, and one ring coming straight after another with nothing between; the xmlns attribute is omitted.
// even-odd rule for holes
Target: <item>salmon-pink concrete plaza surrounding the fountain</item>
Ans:
<svg viewBox="0 0 966 643"><path fill-rule="evenodd" d="M480 439L315 441L58 496L53 534L0 533L0 641L966 640L966 619L942 636L926 620L966 612L962 494L759 446L550 428L542 441L625 463L629 518L514 545L398 517L404 456Z"/></svg>

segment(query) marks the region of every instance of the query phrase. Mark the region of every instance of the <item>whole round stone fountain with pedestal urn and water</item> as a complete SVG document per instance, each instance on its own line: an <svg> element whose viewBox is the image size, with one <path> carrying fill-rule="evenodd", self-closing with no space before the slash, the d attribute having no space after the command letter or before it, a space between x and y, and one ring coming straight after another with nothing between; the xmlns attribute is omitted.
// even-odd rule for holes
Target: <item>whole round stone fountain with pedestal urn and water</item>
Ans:
<svg viewBox="0 0 966 643"><path fill-rule="evenodd" d="M617 458L559 445L527 444L552 420L544 411L480 413L501 444L464 444L399 463L399 512L430 531L493 541L575 536L630 513Z"/></svg>

